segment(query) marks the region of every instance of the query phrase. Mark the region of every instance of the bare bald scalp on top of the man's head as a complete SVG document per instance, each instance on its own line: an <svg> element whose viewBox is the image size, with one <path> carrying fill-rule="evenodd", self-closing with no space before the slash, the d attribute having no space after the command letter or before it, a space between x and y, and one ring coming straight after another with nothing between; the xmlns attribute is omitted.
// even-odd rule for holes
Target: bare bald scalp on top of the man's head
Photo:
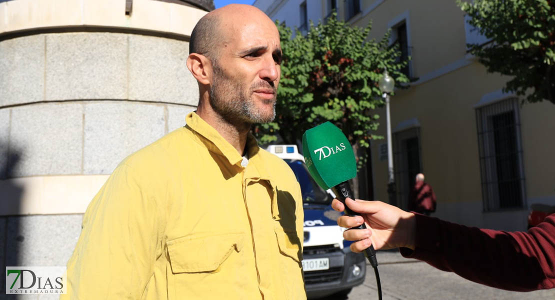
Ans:
<svg viewBox="0 0 555 300"><path fill-rule="evenodd" d="M270 23L275 28L274 22L260 9L246 4L229 4L200 18L191 33L189 53L203 54L215 62L220 49L226 47L236 30L248 22L265 26Z"/></svg>

